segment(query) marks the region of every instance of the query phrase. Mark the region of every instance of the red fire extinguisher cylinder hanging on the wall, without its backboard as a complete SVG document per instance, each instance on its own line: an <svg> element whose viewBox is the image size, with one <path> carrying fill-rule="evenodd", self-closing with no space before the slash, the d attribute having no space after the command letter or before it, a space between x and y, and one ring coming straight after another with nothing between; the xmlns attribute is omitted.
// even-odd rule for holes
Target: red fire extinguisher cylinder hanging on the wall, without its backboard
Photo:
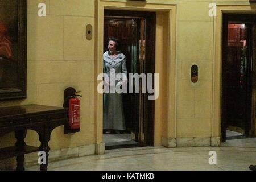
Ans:
<svg viewBox="0 0 256 182"><path fill-rule="evenodd" d="M80 100L74 94L68 100L68 127L69 129L80 129Z"/></svg>

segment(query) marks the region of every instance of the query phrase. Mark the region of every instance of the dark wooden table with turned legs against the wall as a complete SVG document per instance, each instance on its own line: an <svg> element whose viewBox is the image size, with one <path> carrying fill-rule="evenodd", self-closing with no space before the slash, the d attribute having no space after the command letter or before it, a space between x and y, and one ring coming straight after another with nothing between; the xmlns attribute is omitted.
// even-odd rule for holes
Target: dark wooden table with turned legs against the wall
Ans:
<svg viewBox="0 0 256 182"><path fill-rule="evenodd" d="M0 160L16 156L17 170L24 170L24 154L31 152L46 152L46 164L40 165L40 170L46 171L48 166L48 142L51 132L67 122L68 109L43 105L24 105L0 107L0 134L15 132L15 146L0 148ZM24 142L27 130L34 130L39 135L39 147L28 146ZM36 159L37 161L37 159Z"/></svg>

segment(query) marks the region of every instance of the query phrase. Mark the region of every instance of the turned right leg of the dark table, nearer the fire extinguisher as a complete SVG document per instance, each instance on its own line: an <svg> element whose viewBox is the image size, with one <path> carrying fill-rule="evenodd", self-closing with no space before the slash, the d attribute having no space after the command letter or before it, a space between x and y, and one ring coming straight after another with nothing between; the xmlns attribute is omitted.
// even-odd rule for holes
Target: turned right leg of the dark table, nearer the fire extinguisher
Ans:
<svg viewBox="0 0 256 182"><path fill-rule="evenodd" d="M47 129L46 129L47 130ZM44 131L44 133L39 134L39 140L41 142L41 146L39 147L40 151L46 152L46 160L44 160L46 163L40 164L40 170L41 171L47 171L48 167L48 156L49 156L49 150L50 147L48 146L48 142L50 140L51 132Z"/></svg>

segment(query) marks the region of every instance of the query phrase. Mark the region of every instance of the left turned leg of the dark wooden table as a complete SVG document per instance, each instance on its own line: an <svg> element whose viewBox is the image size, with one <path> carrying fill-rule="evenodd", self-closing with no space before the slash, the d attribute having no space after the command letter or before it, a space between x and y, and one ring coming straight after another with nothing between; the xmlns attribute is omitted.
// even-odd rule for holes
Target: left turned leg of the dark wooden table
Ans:
<svg viewBox="0 0 256 182"><path fill-rule="evenodd" d="M24 150L24 146L26 143L24 142L24 138L26 138L27 135L27 130L20 130L20 131L15 131L15 138L17 139L15 146L18 148L19 151ZM24 155L19 155L16 158L17 161L17 171L24 171Z"/></svg>

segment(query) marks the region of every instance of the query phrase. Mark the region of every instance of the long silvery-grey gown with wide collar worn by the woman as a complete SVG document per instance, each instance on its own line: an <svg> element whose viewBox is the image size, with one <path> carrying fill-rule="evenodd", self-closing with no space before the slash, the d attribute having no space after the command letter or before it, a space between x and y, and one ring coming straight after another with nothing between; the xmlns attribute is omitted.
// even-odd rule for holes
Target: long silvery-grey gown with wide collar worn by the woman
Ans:
<svg viewBox="0 0 256 182"><path fill-rule="evenodd" d="M126 58L123 53L118 52L118 56L115 58L110 57L109 51L104 53L104 73L108 75L110 84L115 82L118 84L118 80L115 80L115 75L122 73L123 79L127 78ZM115 74L114 74L115 73ZM112 75L112 77L110 77ZM123 114L123 102L122 93L117 92L110 93L110 89L114 89L114 86L109 86L109 93L104 93L104 130L125 130L125 117Z"/></svg>

